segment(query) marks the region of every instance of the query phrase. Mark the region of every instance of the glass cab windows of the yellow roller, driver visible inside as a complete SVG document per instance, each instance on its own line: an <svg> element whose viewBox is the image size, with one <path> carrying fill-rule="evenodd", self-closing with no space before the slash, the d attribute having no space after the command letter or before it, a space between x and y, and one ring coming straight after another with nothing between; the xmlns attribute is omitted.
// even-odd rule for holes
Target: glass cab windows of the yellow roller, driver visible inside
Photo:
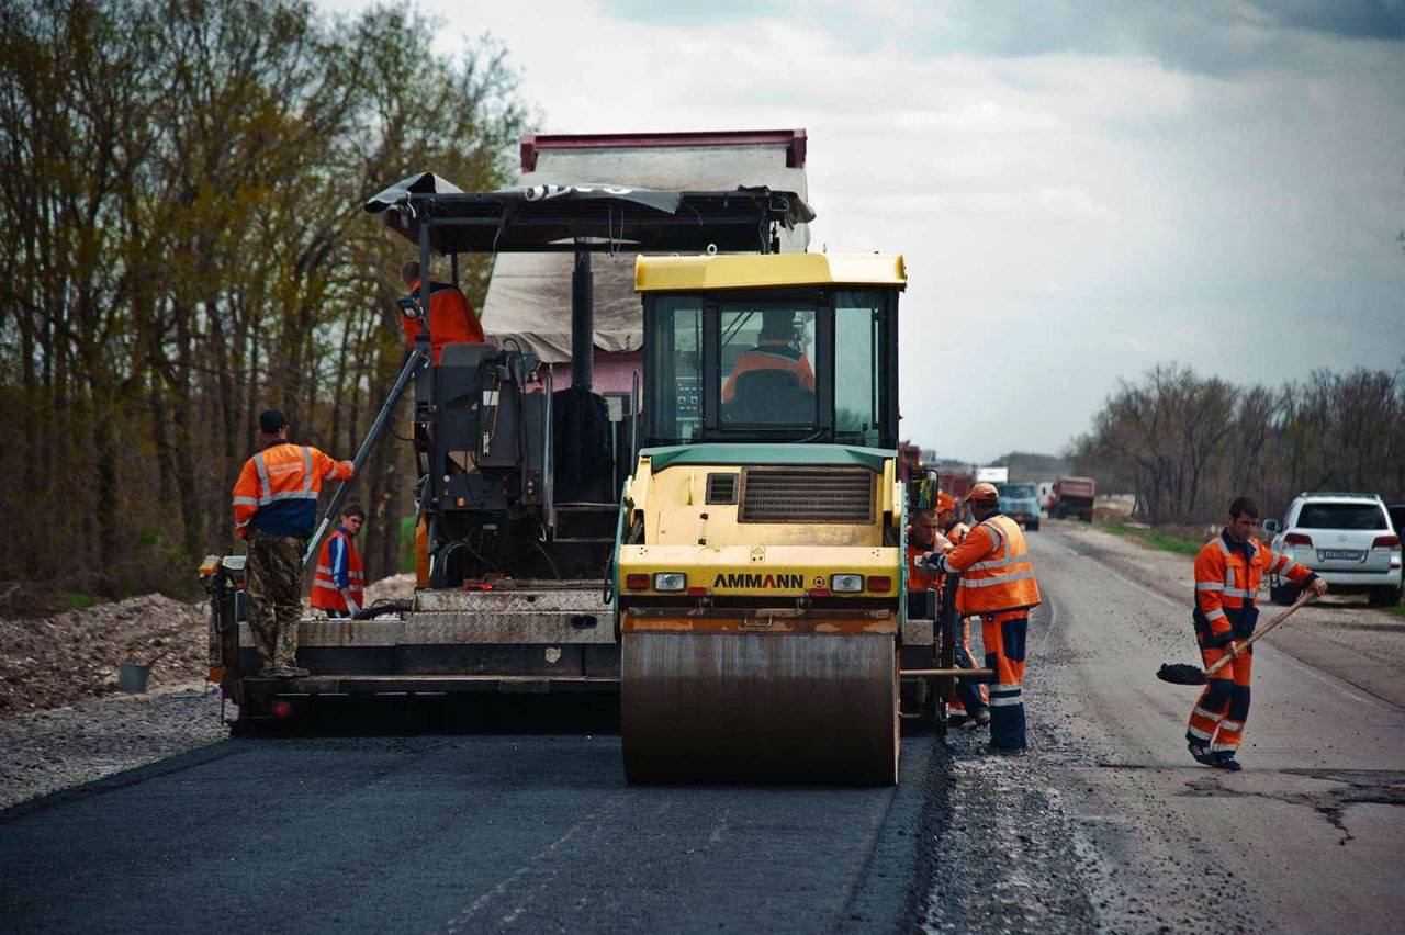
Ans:
<svg viewBox="0 0 1405 935"><path fill-rule="evenodd" d="M655 293L645 444L896 444L891 289Z"/></svg>

